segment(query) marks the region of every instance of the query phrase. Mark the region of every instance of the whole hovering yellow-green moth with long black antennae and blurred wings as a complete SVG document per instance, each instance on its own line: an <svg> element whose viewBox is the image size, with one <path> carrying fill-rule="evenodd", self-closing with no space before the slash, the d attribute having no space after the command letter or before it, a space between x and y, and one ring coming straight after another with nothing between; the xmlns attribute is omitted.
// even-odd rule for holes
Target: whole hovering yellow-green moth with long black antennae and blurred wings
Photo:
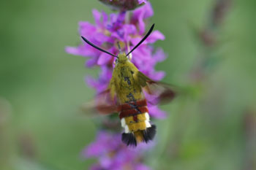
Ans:
<svg viewBox="0 0 256 170"><path fill-rule="evenodd" d="M127 54L121 53L119 44L119 54L113 55L81 36L92 47L116 58L108 88L97 95L95 107L105 114L118 112L121 126L124 128L121 140L127 146L137 146L140 142L147 143L154 139L156 125L150 123L147 103L158 104L162 101L170 101L176 96L170 85L151 80L140 72L128 57L151 34L153 28L154 24L138 45ZM151 101L146 101L144 93L151 96Z"/></svg>

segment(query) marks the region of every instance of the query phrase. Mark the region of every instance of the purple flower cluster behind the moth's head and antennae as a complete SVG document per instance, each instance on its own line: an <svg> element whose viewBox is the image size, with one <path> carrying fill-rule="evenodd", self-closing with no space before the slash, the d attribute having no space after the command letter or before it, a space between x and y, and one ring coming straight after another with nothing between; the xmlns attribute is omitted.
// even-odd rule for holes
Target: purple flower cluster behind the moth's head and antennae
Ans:
<svg viewBox="0 0 256 170"><path fill-rule="evenodd" d="M143 1L139 2L142 3ZM153 14L150 3L135 9L130 18L128 18L129 20L126 19L127 12L107 15L105 12L99 12L94 9L95 25L81 21L79 23L79 32L81 36L85 36L86 39L102 47L102 49L108 50L110 53L118 54L117 42L120 42L121 50L128 53L129 49L132 49L142 39L146 32L145 20ZM148 39L132 53L132 63L138 67L140 72L156 81L162 80L165 77L165 72L157 72L154 69L157 63L165 60L165 53L161 48L154 50L151 44L163 39L165 39L165 36L160 31L153 31L148 36ZM113 72L114 58L112 56L102 53L86 43L78 47L67 47L66 51L73 55L89 57L89 60L86 62L87 67L101 67L98 79L86 77L86 82L91 88L100 93L108 87ZM159 110L157 106L148 107L151 116L157 118L165 117L165 113Z"/></svg>

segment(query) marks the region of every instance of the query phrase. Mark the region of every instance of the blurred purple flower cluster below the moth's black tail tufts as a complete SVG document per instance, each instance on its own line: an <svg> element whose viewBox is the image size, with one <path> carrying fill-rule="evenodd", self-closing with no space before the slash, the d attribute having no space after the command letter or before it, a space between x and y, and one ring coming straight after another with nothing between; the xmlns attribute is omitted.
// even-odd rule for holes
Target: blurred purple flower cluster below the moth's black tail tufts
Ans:
<svg viewBox="0 0 256 170"><path fill-rule="evenodd" d="M130 148L121 142L120 134L99 131L96 141L89 144L82 155L85 158L98 158L98 163L91 166L91 170L150 170L141 163L141 158L143 152L152 147L152 144L141 143L136 148Z"/></svg>

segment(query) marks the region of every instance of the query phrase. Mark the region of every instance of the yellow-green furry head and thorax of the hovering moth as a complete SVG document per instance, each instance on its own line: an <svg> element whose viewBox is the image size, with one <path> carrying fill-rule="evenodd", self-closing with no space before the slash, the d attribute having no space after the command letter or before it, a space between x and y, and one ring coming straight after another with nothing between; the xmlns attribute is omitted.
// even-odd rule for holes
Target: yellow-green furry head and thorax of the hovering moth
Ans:
<svg viewBox="0 0 256 170"><path fill-rule="evenodd" d="M118 101L121 104L138 101L143 98L142 88L138 83L137 74L138 69L129 61L125 53L118 54L110 83L113 83L112 85L115 87Z"/></svg>

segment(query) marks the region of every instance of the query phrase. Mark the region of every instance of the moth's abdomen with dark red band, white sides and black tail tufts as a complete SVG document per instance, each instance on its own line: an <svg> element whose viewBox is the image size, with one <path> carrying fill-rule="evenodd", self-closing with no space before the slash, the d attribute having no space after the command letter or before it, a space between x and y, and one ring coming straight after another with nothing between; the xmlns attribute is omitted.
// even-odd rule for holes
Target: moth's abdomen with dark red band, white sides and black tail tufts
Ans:
<svg viewBox="0 0 256 170"><path fill-rule="evenodd" d="M122 141L127 145L137 145L154 139L156 126L150 124L146 99L131 101L119 107L121 126L124 128Z"/></svg>

